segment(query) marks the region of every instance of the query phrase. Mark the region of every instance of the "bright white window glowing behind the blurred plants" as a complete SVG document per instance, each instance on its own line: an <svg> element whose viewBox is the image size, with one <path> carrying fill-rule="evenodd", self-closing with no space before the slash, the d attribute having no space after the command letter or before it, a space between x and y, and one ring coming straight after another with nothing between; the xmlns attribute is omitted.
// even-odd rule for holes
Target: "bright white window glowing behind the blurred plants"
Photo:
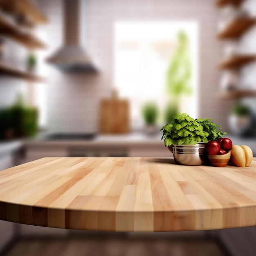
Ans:
<svg viewBox="0 0 256 256"><path fill-rule="evenodd" d="M178 55L179 34L187 38L186 61ZM119 96L130 100L132 126L143 124L141 107L157 103L160 113L177 95L168 92L167 72L178 68L181 82L189 66L190 93L179 96L179 111L198 116L198 23L195 21L117 21L115 23L114 83ZM177 61L180 58L180 61ZM189 64L188 64L189 63ZM175 64L176 65L176 64ZM184 75L183 75L183 73ZM172 71L173 73L173 71ZM175 79L171 79L171 83ZM184 80L184 79L183 79ZM186 81L187 83L188 81ZM177 97L176 97L177 98ZM164 123L163 115L159 123Z"/></svg>

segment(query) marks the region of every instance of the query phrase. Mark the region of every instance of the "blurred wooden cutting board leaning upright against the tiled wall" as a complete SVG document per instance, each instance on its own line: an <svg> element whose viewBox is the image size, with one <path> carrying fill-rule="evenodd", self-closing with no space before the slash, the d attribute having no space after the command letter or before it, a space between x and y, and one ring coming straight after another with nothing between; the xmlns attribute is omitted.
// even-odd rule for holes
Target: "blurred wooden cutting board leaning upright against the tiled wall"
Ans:
<svg viewBox="0 0 256 256"><path fill-rule="evenodd" d="M100 105L100 132L102 134L124 134L130 131L129 102L112 98L103 99Z"/></svg>

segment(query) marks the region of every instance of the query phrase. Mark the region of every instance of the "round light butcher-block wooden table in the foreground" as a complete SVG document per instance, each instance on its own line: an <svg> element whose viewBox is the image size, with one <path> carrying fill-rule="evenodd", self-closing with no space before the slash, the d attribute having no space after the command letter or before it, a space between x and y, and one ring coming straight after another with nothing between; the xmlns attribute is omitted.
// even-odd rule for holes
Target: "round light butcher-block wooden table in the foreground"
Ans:
<svg viewBox="0 0 256 256"><path fill-rule="evenodd" d="M256 225L249 167L182 166L170 158L42 158L0 172L0 219L101 231Z"/></svg>

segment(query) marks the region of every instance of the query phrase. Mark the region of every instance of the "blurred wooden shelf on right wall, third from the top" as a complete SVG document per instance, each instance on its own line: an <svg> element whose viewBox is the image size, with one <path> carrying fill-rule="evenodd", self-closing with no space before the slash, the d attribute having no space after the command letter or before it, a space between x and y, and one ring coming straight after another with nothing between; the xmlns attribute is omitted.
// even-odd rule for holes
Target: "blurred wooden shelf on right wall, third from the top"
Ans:
<svg viewBox="0 0 256 256"><path fill-rule="evenodd" d="M218 67L221 70L237 69L255 60L256 60L256 55L253 55L253 54L235 55L225 61L222 61Z"/></svg>

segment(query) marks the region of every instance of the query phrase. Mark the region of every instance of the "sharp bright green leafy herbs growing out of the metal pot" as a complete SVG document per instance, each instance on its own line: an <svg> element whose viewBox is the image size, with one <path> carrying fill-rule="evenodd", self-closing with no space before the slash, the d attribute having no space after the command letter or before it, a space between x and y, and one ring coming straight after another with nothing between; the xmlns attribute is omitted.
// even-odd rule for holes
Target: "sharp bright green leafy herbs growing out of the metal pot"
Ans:
<svg viewBox="0 0 256 256"><path fill-rule="evenodd" d="M173 117L171 124L166 124L161 128L162 139L165 146L171 145L195 145L198 142L207 143L210 140L218 140L226 132L221 132L217 124L213 124L211 119L193 119L188 114L177 114Z"/></svg>

